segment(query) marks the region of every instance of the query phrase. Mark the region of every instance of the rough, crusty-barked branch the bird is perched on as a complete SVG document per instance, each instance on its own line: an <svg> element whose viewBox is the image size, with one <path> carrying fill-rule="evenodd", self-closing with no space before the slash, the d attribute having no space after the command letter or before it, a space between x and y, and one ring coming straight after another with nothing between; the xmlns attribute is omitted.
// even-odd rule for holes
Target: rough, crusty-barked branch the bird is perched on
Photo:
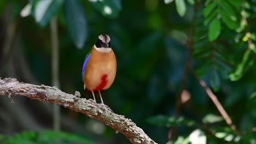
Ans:
<svg viewBox="0 0 256 144"><path fill-rule="evenodd" d="M105 107L102 104L96 104L92 99L80 98L79 92L72 95L62 92L57 87L38 86L19 82L16 79L0 78L0 95L25 96L30 99L59 104L73 111L84 113L88 117L98 119L115 131L123 133L131 143L156 143L131 119L117 115L108 106L107 112L105 112Z"/></svg>

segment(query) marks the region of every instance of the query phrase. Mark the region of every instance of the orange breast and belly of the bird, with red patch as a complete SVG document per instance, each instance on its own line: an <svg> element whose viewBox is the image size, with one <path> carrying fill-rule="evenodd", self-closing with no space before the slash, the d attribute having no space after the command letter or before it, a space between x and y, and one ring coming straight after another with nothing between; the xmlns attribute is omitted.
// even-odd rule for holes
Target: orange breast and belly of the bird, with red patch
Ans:
<svg viewBox="0 0 256 144"><path fill-rule="evenodd" d="M92 49L85 68L84 84L89 91L109 88L115 79L117 61L113 50L98 52Z"/></svg>

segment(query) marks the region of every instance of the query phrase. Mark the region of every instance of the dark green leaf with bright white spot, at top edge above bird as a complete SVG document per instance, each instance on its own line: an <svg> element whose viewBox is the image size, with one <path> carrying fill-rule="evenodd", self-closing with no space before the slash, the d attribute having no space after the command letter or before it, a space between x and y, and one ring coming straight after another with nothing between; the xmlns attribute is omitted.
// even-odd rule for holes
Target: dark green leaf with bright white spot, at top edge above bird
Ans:
<svg viewBox="0 0 256 144"><path fill-rule="evenodd" d="M90 1L92 6L95 7L102 15L114 18L118 16L121 10L120 0L104 0L104 1Z"/></svg>

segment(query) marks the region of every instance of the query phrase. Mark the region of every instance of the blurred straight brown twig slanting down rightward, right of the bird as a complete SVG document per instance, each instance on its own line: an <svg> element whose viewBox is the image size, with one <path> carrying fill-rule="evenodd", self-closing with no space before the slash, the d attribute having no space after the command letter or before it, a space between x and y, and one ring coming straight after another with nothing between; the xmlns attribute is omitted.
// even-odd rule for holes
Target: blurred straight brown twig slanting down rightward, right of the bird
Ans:
<svg viewBox="0 0 256 144"><path fill-rule="evenodd" d="M205 81L203 81L202 79L200 79L196 73L192 70L193 75L196 77L196 79L199 81L200 85L205 88L206 93L208 94L208 96L211 98L211 100L213 101L214 105L217 107L218 111L220 112L220 114L222 115L222 117L225 119L226 123L230 126L230 128L232 130L234 130L236 133L236 126L232 123L231 118L229 117L228 113L225 111L224 107L222 106L222 104L220 104L218 98L216 97L216 95L212 92L211 88L209 88Z"/></svg>

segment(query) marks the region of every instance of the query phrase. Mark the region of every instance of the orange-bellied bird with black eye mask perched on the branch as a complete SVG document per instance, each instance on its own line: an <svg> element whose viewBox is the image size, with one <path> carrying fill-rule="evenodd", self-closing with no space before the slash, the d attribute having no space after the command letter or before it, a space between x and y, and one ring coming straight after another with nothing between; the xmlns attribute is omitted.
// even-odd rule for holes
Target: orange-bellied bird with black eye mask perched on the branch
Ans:
<svg viewBox="0 0 256 144"><path fill-rule="evenodd" d="M88 89L92 93L95 102L95 92L98 92L101 104L104 105L101 91L112 85L116 73L117 59L110 44L110 37L107 34L101 34L98 36L96 44L85 56L82 69L84 89ZM104 106L106 108L106 105Z"/></svg>

